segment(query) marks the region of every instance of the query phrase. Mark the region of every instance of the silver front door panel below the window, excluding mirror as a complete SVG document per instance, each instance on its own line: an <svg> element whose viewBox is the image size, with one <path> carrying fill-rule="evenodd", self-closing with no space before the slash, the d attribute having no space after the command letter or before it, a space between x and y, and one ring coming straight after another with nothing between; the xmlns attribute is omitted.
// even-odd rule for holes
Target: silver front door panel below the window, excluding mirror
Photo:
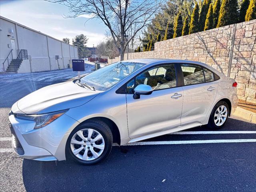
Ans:
<svg viewBox="0 0 256 192"><path fill-rule="evenodd" d="M180 126L183 97L171 98L174 94L183 95L181 87L153 91L134 99L126 94L128 132L136 138Z"/></svg>

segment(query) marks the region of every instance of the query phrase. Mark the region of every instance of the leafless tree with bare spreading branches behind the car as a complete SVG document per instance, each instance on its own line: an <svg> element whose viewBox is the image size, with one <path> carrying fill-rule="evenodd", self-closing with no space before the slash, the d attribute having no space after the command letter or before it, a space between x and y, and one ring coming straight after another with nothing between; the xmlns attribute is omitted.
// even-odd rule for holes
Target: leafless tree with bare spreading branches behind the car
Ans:
<svg viewBox="0 0 256 192"><path fill-rule="evenodd" d="M67 6L68 18L90 15L100 19L110 30L121 60L129 42L147 26L161 7L162 0L46 0ZM86 22L88 21L86 20ZM129 36L128 39L125 36Z"/></svg>

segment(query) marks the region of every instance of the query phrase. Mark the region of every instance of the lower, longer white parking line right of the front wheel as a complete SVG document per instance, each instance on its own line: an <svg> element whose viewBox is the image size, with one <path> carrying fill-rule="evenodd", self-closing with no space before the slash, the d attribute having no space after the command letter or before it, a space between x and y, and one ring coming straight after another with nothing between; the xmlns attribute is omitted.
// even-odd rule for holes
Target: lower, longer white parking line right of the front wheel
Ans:
<svg viewBox="0 0 256 192"><path fill-rule="evenodd" d="M148 141L134 142L125 144L130 145L172 145L172 144L199 144L199 143L241 143L241 142L256 142L256 139L217 139L217 140L187 140L187 141ZM114 144L113 146L118 146Z"/></svg>

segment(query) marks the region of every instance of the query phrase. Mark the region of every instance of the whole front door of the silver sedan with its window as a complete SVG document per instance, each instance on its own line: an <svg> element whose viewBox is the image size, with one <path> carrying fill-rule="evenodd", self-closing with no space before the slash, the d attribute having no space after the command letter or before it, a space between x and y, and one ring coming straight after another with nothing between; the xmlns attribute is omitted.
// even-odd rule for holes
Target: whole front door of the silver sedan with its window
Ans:
<svg viewBox="0 0 256 192"><path fill-rule="evenodd" d="M127 84L127 92L139 84L153 88L150 95L134 99L126 94L127 119L130 138L168 130L180 126L183 91L177 87L174 64L150 68Z"/></svg>

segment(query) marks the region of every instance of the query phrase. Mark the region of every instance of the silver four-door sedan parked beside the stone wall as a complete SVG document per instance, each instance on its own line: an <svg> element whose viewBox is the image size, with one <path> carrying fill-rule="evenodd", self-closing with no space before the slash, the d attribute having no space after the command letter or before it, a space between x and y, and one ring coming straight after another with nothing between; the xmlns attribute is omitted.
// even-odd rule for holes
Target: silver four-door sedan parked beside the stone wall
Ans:
<svg viewBox="0 0 256 192"><path fill-rule="evenodd" d="M78 80L41 88L12 106L15 152L27 159L95 164L124 145L197 126L222 128L237 83L194 61L116 62Z"/></svg>

